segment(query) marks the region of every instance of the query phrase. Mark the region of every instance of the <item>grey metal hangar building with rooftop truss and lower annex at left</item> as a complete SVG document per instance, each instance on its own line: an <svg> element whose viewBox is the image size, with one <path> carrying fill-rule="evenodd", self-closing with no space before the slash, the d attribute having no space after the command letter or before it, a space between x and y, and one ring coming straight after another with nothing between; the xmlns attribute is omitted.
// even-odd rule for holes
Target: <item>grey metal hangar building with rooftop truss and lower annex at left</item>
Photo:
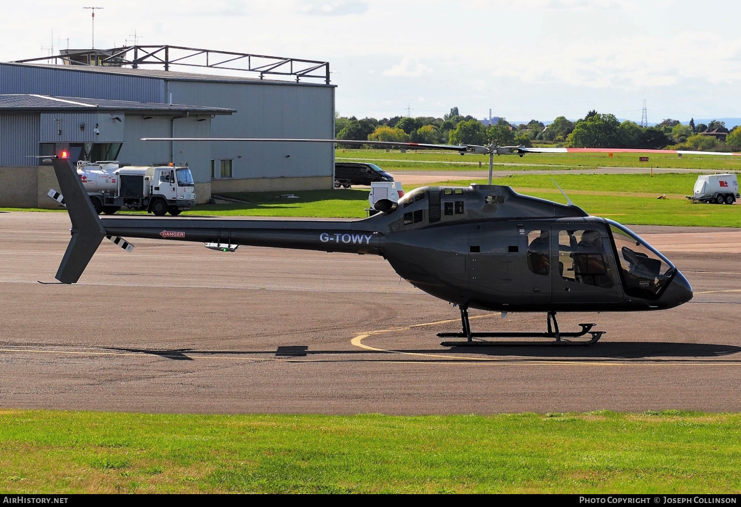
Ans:
<svg viewBox="0 0 741 507"><path fill-rule="evenodd" d="M131 53L134 57L128 58ZM187 63L204 54L206 64ZM139 141L170 136L331 139L335 86L329 84L327 62L170 46L68 51L52 58L62 64L39 59L0 63L2 206L53 207L44 197L50 188L48 168L33 156L62 148L79 159L187 164L198 202L207 202L212 193L333 187L334 150L326 143ZM214 60L247 64L227 67ZM183 62L259 77L170 70ZM166 70L141 68L147 64ZM273 75L293 81L265 79Z"/></svg>

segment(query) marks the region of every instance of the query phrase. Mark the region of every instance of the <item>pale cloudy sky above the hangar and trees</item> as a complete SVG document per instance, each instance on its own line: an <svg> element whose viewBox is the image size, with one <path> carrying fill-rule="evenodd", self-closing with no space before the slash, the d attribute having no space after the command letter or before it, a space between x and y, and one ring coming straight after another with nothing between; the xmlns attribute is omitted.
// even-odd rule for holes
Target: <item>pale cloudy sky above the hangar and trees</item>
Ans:
<svg viewBox="0 0 741 507"><path fill-rule="evenodd" d="M330 62L342 116L741 117L741 2L26 0L0 61L132 42ZM68 39L68 40L67 40Z"/></svg>

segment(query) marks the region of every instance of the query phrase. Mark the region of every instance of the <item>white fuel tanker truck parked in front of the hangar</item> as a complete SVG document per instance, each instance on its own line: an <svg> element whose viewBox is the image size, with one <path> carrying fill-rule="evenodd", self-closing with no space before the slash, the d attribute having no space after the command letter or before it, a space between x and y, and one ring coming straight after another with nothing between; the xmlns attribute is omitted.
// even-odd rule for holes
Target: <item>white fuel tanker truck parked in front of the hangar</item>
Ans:
<svg viewBox="0 0 741 507"><path fill-rule="evenodd" d="M121 208L146 210L157 216L179 215L196 204L190 169L170 166L124 166L119 162L77 164L82 186L99 214Z"/></svg>

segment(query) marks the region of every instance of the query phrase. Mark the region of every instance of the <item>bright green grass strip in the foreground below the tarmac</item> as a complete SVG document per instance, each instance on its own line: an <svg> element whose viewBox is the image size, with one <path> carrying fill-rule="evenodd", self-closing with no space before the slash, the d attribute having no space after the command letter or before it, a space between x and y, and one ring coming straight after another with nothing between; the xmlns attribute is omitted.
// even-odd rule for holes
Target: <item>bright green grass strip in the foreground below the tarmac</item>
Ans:
<svg viewBox="0 0 741 507"><path fill-rule="evenodd" d="M3 493L738 493L741 414L0 412Z"/></svg>

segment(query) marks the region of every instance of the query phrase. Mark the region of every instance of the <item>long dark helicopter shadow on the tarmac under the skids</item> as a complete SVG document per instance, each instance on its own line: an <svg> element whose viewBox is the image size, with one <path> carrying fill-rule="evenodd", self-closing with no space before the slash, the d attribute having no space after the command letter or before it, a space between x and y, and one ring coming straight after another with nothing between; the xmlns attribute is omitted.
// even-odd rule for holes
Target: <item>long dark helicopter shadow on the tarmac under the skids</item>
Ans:
<svg viewBox="0 0 741 507"><path fill-rule="evenodd" d="M501 342L500 342L501 343ZM307 345L288 345L279 346L276 350L265 351L206 351L193 348L183 349L145 349L145 348L106 348L112 351L121 351L127 353L139 353L143 355L154 355L165 359L192 361L196 357L280 357L285 359L307 357L313 362L386 362L388 357L383 359L372 359L368 355L402 353L402 354L461 354L461 360L470 361L471 357L508 357L509 359L563 359L573 361L574 359L645 359L657 361L682 361L699 358L728 357L741 352L741 347L736 345L719 345L711 343L679 343L679 342L602 342L599 345L589 347L564 347L559 345L550 345L547 343L527 343L517 345L503 343L502 345L475 346L468 345L465 347L451 348L428 348L428 349L411 349L411 348L394 348L389 351L368 351L368 350L318 350L310 351ZM348 356L362 356L357 359L348 358ZM446 362L455 360L455 358L446 355L445 357L416 357L416 361L422 362L439 362L444 359ZM396 358L395 360L398 360ZM740 362L738 359L723 359L723 362Z"/></svg>

